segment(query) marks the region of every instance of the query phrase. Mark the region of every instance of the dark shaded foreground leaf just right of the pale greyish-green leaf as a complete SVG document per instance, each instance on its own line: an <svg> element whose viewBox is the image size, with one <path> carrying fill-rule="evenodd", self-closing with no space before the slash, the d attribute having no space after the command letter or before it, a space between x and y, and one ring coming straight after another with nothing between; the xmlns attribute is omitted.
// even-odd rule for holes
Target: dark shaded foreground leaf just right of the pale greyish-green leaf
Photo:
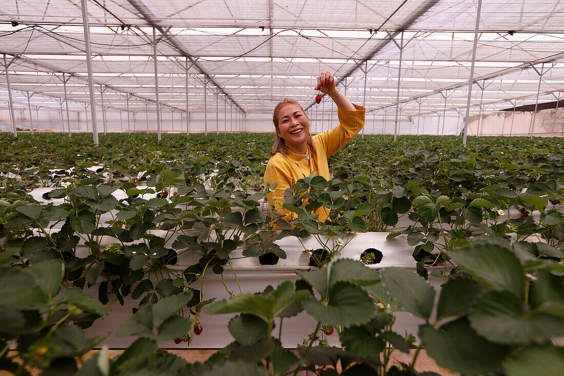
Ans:
<svg viewBox="0 0 564 376"><path fill-rule="evenodd" d="M469 278L450 278L440 290L437 318L466 316L483 286Z"/></svg>

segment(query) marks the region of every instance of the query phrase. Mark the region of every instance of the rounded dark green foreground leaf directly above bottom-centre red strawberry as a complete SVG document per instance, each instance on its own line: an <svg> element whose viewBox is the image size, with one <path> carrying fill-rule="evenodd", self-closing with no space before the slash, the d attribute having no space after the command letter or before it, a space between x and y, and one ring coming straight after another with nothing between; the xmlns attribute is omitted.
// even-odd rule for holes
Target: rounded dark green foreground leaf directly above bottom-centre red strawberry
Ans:
<svg viewBox="0 0 564 376"><path fill-rule="evenodd" d="M374 314L372 298L361 287L349 282L337 282L329 288L327 305L310 296L302 306L316 320L330 326L362 324Z"/></svg>

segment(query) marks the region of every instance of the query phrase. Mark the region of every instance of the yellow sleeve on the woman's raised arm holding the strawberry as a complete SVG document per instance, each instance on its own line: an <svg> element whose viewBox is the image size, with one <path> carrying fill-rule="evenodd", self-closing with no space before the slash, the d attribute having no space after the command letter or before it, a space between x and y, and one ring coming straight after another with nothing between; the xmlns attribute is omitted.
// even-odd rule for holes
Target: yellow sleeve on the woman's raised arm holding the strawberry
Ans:
<svg viewBox="0 0 564 376"><path fill-rule="evenodd" d="M364 126L365 108L354 103L352 105L356 108L356 111L337 109L339 125L315 135L315 141L325 148L328 157L351 141Z"/></svg>

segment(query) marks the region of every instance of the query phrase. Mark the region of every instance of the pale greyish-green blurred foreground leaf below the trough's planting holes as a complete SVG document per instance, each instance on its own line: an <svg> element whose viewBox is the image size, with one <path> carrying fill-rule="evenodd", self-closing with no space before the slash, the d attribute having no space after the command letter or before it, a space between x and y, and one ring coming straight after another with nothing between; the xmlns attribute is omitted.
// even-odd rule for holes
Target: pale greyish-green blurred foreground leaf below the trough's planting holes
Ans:
<svg viewBox="0 0 564 376"><path fill-rule="evenodd" d="M435 298L435 290L431 285L403 268L385 268L380 276L392 299L398 301L406 311L429 320Z"/></svg>

